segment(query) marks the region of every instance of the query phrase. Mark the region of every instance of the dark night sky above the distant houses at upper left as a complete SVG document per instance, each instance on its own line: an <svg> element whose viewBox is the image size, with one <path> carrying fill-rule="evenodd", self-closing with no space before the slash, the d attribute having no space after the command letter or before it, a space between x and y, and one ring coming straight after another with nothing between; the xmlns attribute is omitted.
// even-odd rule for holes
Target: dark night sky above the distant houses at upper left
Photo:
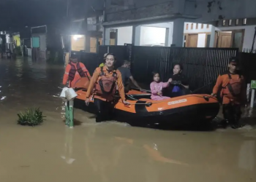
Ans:
<svg viewBox="0 0 256 182"><path fill-rule="evenodd" d="M70 1L75 5L84 0ZM66 12L67 0L0 0L0 31L58 23Z"/></svg>

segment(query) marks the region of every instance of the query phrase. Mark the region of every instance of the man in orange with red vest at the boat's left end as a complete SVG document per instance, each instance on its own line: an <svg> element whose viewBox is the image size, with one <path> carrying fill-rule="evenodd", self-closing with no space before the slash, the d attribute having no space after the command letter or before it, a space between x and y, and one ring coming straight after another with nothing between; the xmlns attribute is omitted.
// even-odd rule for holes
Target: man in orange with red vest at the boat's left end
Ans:
<svg viewBox="0 0 256 182"><path fill-rule="evenodd" d="M89 76L89 71L83 63L78 62L78 55L75 52L72 52L69 63L66 66L65 74L63 76L63 84L67 84L69 81L69 87L74 87L75 82L78 81L81 77Z"/></svg>

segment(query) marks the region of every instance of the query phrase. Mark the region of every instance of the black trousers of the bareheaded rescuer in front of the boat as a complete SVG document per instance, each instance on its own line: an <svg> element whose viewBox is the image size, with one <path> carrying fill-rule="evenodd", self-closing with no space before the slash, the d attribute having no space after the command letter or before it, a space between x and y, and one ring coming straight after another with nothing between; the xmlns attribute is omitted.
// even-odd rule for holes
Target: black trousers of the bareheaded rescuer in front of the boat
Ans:
<svg viewBox="0 0 256 182"><path fill-rule="evenodd" d="M113 118L113 102L94 98L94 106L96 108L96 122L105 122Z"/></svg>

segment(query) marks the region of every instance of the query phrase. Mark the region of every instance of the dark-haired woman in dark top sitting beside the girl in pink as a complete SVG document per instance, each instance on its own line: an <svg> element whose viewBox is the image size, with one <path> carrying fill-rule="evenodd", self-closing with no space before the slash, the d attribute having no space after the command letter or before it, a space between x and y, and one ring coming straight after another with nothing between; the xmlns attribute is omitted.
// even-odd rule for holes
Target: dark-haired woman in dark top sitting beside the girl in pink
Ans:
<svg viewBox="0 0 256 182"><path fill-rule="evenodd" d="M182 71L183 66L181 64L176 64L173 67L173 76L171 77L173 81L168 88L168 96L171 98L186 95L186 93L189 92L189 79L182 74Z"/></svg>

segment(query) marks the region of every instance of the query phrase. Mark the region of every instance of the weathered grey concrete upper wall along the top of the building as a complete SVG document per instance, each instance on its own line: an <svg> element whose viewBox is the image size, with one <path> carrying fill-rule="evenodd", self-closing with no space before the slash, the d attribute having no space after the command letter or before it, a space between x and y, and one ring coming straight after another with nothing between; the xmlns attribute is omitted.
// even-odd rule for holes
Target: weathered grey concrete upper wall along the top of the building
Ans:
<svg viewBox="0 0 256 182"><path fill-rule="evenodd" d="M107 0L106 21L140 20L165 15L185 15L195 22L256 17L255 0ZM239 13L238 13L239 12Z"/></svg>

